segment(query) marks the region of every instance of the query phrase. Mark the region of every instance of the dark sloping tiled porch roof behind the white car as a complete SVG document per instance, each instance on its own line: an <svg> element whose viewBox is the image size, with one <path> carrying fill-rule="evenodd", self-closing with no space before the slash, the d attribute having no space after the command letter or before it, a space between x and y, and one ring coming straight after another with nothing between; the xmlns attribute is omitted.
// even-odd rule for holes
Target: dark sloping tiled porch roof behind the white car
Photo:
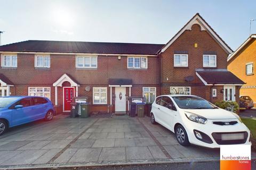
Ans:
<svg viewBox="0 0 256 170"><path fill-rule="evenodd" d="M196 70L197 77L205 86L243 86L245 82L226 69Z"/></svg>

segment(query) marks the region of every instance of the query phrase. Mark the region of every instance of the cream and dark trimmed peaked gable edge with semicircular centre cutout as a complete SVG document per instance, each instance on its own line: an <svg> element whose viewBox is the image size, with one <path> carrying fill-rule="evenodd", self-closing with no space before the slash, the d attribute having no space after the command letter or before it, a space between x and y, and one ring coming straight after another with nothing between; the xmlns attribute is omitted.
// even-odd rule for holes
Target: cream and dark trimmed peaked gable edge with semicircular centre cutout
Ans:
<svg viewBox="0 0 256 170"><path fill-rule="evenodd" d="M207 31L210 36L217 41L217 43L228 53L232 53L233 50L225 43L225 41L223 41L220 36L212 29L212 27L202 18L202 16L199 13L196 13L193 18L191 18L186 25L184 25L184 27L181 28L181 30L179 30L179 32L177 32L175 34L175 36L165 45L161 48L161 50L159 50L158 53L163 53L176 39L178 39L182 33L186 30L191 30L192 25L194 24L199 24L201 26L201 31Z"/></svg>

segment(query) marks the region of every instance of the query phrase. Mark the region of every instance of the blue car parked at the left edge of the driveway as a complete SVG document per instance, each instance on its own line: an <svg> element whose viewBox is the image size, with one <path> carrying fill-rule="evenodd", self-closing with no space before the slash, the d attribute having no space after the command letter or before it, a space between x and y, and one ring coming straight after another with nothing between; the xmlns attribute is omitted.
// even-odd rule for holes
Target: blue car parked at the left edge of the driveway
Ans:
<svg viewBox="0 0 256 170"><path fill-rule="evenodd" d="M9 96L0 98L0 135L8 128L43 119L51 121L54 107L45 97Z"/></svg>

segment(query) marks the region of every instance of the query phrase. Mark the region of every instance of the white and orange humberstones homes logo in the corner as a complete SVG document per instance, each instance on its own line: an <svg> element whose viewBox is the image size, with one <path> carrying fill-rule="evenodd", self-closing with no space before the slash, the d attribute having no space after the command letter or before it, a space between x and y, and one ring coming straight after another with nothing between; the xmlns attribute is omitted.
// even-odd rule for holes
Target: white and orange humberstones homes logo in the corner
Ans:
<svg viewBox="0 0 256 170"><path fill-rule="evenodd" d="M221 145L221 170L251 170L250 145Z"/></svg>

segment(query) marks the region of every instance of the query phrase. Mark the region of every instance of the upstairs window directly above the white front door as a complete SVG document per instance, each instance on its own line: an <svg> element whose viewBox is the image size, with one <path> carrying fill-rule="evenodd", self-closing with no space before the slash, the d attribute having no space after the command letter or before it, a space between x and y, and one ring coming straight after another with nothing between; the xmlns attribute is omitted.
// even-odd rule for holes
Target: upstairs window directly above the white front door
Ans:
<svg viewBox="0 0 256 170"><path fill-rule="evenodd" d="M127 57L128 69L147 69L147 57Z"/></svg>

